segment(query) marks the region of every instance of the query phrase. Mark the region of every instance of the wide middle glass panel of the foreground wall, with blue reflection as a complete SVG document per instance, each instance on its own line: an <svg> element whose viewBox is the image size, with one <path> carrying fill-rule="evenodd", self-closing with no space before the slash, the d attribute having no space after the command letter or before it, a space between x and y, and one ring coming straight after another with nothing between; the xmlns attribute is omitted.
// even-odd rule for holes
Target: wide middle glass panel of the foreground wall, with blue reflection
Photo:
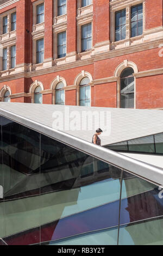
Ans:
<svg viewBox="0 0 163 256"><path fill-rule="evenodd" d="M117 243L121 170L98 173L98 162L41 135L41 242Z"/></svg>

